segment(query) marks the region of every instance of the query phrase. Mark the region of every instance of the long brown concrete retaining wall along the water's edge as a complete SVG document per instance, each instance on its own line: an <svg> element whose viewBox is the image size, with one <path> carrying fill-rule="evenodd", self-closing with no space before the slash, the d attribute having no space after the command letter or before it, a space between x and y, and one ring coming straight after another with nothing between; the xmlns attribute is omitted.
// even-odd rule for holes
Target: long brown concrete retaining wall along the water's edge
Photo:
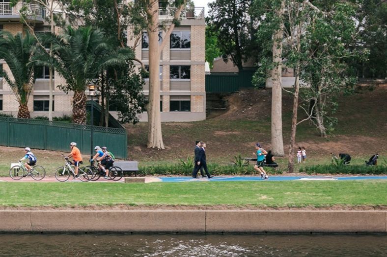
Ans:
<svg viewBox="0 0 387 257"><path fill-rule="evenodd" d="M1 210L0 232L387 233L387 211Z"/></svg>

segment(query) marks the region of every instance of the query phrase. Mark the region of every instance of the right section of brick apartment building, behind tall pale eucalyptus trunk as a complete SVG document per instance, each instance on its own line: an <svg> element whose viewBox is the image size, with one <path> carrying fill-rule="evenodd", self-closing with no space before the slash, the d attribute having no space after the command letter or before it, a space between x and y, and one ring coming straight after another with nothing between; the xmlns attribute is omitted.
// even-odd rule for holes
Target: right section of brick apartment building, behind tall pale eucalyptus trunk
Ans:
<svg viewBox="0 0 387 257"><path fill-rule="evenodd" d="M175 8L160 8L161 22L170 21ZM128 32L130 35L130 31ZM184 8L179 26L165 38L160 31L159 42L167 41L160 56L160 111L162 121L195 121L206 118L205 93L205 20L204 7ZM134 39L128 45L133 47ZM142 32L135 49L136 58L147 67L148 36ZM139 68L139 65L138 65ZM145 79L144 94L149 94ZM147 120L146 113L140 117Z"/></svg>

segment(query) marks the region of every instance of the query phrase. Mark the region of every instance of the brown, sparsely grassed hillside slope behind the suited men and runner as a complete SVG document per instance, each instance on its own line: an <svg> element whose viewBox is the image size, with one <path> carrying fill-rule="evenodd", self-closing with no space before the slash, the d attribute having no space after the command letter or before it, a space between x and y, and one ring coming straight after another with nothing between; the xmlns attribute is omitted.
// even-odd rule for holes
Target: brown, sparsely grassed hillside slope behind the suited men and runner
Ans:
<svg viewBox="0 0 387 257"><path fill-rule="evenodd" d="M230 111L220 117L197 122L163 123L166 150L146 148L147 123L127 125L129 158L143 164L175 162L193 156L194 141L207 142L210 162L230 163L241 153L251 157L255 142L267 150L270 146L271 91L246 90L229 96ZM292 97L283 96L283 135L288 151ZM387 88L358 90L339 98L334 134L323 139L316 128L304 122L298 126L297 144L307 150L308 163L329 162L330 153L341 152L355 157L362 164L378 152L387 156ZM300 115L300 119L302 114ZM356 159L356 157L358 159ZM281 160L285 163L286 160Z"/></svg>

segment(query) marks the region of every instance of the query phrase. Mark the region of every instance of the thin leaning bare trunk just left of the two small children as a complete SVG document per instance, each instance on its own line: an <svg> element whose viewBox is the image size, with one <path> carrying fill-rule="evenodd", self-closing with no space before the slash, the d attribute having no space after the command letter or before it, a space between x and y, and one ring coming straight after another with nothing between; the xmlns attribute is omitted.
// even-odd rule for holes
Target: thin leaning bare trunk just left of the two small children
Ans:
<svg viewBox="0 0 387 257"><path fill-rule="evenodd" d="M299 67L299 65L297 67ZM299 80L300 80L300 76L298 71L296 71L296 81L294 82L292 127L290 132L290 146L289 146L289 156L288 156L289 173L294 172L294 149L296 147L298 95L299 95L299 89L300 89Z"/></svg>

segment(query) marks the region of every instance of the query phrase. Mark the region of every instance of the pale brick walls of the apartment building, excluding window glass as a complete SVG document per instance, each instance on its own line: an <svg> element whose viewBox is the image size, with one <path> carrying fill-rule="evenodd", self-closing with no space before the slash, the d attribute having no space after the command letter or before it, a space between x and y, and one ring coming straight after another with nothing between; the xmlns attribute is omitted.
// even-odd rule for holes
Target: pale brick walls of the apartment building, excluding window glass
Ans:
<svg viewBox="0 0 387 257"><path fill-rule="evenodd" d="M23 31L23 24L21 23L5 23L3 29L10 31L12 34ZM55 31L57 31L57 27ZM133 29L128 28L128 46L134 47L136 36L133 35ZM175 27L174 31L190 31L191 34L191 48L173 49L173 56L171 57L170 38L166 38L166 31L163 31L163 40L166 43L161 53L160 65L162 66L162 81L161 82L161 97L162 97L162 121L184 121L184 120L203 120L205 119L205 21L204 19L182 20L181 27ZM141 38L138 40L138 46L135 48L136 58L141 60L144 65L148 65L149 60L143 58L141 49ZM146 53L146 51L145 51ZM177 57L176 57L177 56ZM172 60L171 60L172 58ZM140 68L138 63L136 68ZM170 66L190 66L190 79L182 79L181 87L180 80L173 81L174 86L171 90L170 81ZM3 63L3 69L9 71L9 68ZM11 75L10 72L8 74ZM12 76L12 75L11 75ZM33 112L34 95L48 96L48 80L39 80L39 90L34 90L28 101L28 108L31 116L47 115L48 112ZM65 94L60 91L57 86L65 84L65 80L55 72L53 96L55 101L54 116L61 116L63 114L71 115L72 113L72 93ZM3 100L3 112L17 114L19 104L16 101L15 95L11 92L9 85L5 80L2 81L3 88L0 90ZM145 94L148 91L144 92ZM182 99L190 99L190 112L169 112L170 96L181 96ZM42 98L40 98L42 99ZM176 99L176 98L175 98ZM146 120L146 114L141 115L141 120Z"/></svg>

